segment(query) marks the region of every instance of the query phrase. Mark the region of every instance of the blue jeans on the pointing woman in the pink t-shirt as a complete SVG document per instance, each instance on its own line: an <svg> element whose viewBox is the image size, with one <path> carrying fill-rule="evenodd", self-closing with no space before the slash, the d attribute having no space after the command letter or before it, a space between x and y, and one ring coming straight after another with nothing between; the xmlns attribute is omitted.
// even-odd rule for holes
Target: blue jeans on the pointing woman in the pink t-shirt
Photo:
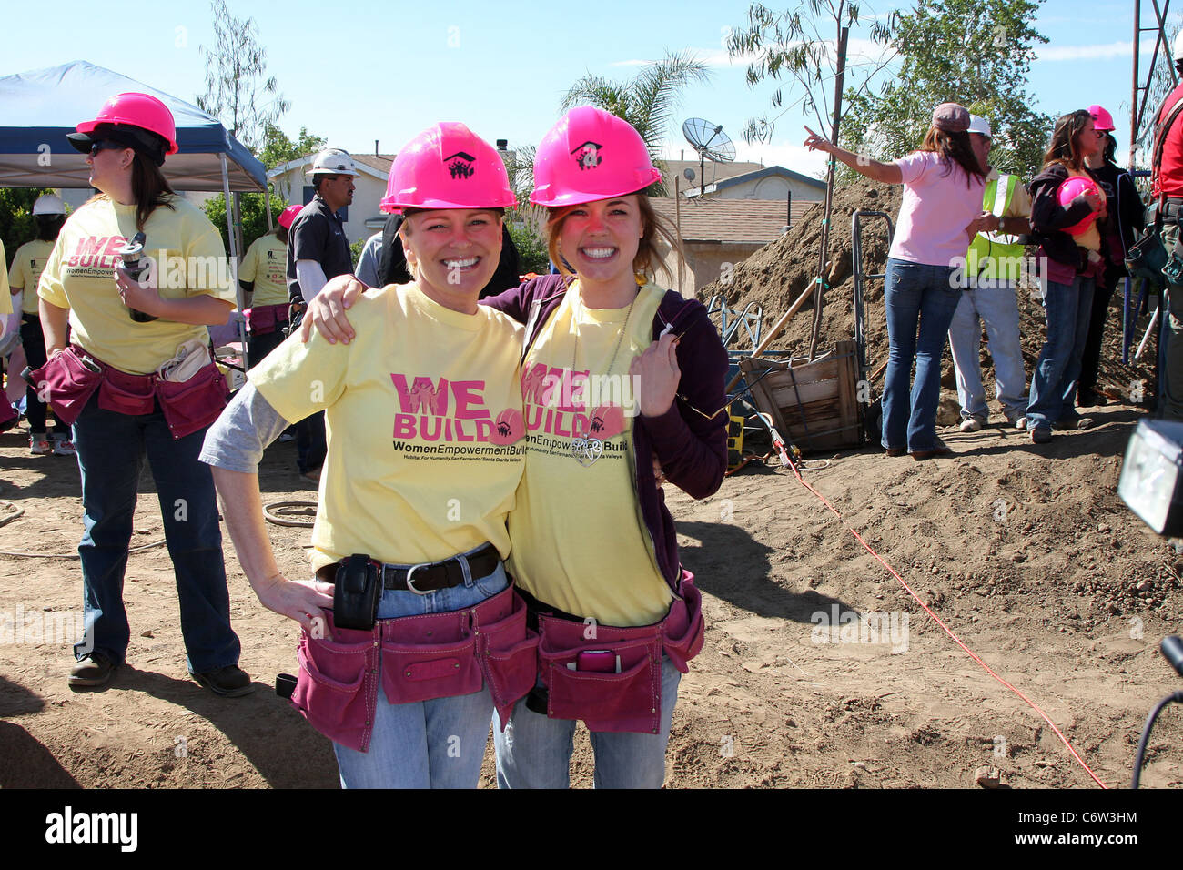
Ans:
<svg viewBox="0 0 1183 870"><path fill-rule="evenodd" d="M940 357L962 290L950 286L952 266L887 258L887 374L884 376L883 446L910 452L937 446ZM919 339L917 339L919 324ZM909 391L912 360L916 382Z"/></svg>

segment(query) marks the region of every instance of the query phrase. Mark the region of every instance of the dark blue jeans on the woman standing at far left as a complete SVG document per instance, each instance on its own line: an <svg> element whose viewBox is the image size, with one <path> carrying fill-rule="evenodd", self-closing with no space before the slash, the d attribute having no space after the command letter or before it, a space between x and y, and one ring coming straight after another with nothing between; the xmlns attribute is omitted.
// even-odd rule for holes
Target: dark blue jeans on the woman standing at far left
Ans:
<svg viewBox="0 0 1183 870"><path fill-rule="evenodd" d="M86 614L86 637L75 644L77 658L93 649L122 664L127 655L123 574L147 456L176 575L189 672L238 664L214 479L209 466L198 460L205 437L202 428L173 440L159 405L150 414L121 414L98 407L97 393L75 421L84 513L78 555Z"/></svg>

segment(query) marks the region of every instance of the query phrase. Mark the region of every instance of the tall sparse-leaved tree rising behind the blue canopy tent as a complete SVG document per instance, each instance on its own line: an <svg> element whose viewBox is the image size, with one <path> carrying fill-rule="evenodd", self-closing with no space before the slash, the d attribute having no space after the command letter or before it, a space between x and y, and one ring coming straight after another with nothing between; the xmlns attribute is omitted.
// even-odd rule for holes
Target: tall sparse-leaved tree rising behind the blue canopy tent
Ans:
<svg viewBox="0 0 1183 870"><path fill-rule="evenodd" d="M253 149L266 125L274 124L291 104L279 94L274 76L267 77L267 52L258 41L254 19L235 18L226 0L211 0L211 7L216 45L212 50L201 46L206 92L198 97L198 105Z"/></svg>

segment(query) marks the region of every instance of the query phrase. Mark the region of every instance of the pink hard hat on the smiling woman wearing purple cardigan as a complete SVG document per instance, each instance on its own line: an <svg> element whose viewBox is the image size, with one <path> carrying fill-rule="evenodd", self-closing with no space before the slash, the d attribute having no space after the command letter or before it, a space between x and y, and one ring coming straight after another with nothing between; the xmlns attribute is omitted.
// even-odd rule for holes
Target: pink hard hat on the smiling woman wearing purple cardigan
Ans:
<svg viewBox="0 0 1183 870"><path fill-rule="evenodd" d="M534 193L539 206L623 196L661 180L633 125L594 105L567 112L538 144Z"/></svg>

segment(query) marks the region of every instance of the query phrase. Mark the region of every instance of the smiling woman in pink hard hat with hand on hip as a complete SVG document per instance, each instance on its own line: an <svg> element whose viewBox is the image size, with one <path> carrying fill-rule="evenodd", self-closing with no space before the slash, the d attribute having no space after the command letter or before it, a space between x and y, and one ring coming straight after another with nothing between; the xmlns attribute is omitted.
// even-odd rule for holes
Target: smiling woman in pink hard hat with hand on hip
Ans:
<svg viewBox="0 0 1183 870"><path fill-rule="evenodd" d="M524 465L521 327L477 305L515 198L464 124L424 131L393 172L414 281L357 299L353 343L293 337L252 368L202 459L259 600L304 629L292 703L332 740L342 786L471 788L537 647L502 561ZM258 462L322 410L315 578L287 580Z"/></svg>

